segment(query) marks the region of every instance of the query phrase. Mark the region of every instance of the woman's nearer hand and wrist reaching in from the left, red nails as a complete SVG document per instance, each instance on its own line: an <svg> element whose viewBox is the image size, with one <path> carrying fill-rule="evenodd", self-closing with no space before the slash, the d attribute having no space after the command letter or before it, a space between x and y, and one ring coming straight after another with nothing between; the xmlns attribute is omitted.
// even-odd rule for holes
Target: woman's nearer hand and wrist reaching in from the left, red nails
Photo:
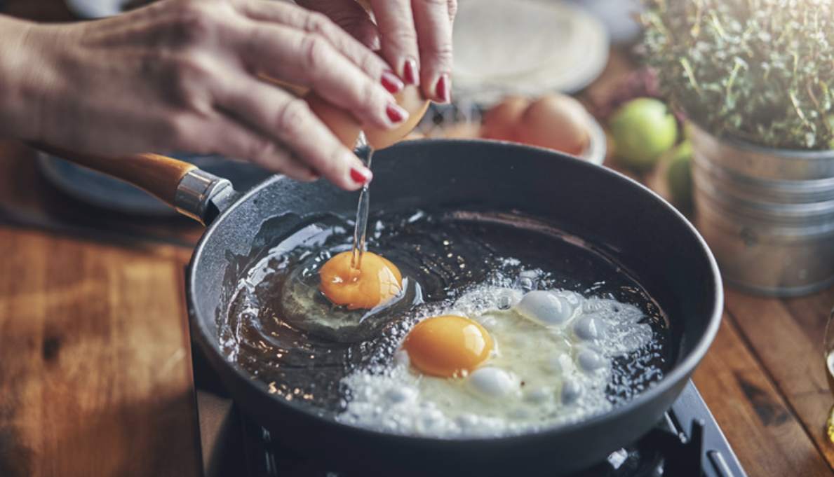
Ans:
<svg viewBox="0 0 834 477"><path fill-rule="evenodd" d="M0 17L0 137L86 152L244 158L353 190L370 171L274 78L359 121L407 113L402 82L319 13L264 0L163 0L93 22Z"/></svg>

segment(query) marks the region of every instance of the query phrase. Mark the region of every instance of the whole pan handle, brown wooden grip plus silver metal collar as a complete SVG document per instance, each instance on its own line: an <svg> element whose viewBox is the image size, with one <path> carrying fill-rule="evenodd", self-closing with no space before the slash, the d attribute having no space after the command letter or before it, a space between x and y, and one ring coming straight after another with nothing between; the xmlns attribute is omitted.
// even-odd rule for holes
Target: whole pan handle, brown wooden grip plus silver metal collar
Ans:
<svg viewBox="0 0 834 477"><path fill-rule="evenodd" d="M133 184L204 225L213 221L237 195L228 180L173 157L151 153L105 156L43 143L31 146Z"/></svg>

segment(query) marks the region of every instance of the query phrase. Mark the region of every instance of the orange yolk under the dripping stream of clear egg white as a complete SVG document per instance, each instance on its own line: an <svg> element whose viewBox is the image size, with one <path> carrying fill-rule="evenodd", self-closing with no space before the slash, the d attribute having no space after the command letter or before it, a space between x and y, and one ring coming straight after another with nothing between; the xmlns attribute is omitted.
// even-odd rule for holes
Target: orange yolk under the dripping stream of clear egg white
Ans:
<svg viewBox="0 0 834 477"><path fill-rule="evenodd" d="M343 251L319 270L319 290L330 301L348 310L369 309L388 303L403 290L399 269L390 261L365 251L357 271L350 266L353 257L352 251Z"/></svg>

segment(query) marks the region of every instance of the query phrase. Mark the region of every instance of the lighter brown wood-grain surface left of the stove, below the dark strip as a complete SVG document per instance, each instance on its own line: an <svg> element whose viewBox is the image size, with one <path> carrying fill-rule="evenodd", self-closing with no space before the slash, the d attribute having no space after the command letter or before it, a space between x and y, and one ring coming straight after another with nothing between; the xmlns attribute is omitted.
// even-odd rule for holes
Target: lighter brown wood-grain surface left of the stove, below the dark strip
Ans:
<svg viewBox="0 0 834 477"><path fill-rule="evenodd" d="M0 475L196 475L183 264L0 228Z"/></svg>

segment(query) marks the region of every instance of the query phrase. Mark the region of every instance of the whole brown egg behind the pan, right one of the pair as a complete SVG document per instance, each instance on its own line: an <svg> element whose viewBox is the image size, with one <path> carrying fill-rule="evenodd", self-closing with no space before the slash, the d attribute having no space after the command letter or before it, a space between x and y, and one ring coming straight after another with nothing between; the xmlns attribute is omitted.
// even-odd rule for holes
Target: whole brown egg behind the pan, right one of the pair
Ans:
<svg viewBox="0 0 834 477"><path fill-rule="evenodd" d="M532 102L521 115L518 138L578 156L590 143L590 117L575 98L550 93Z"/></svg>

